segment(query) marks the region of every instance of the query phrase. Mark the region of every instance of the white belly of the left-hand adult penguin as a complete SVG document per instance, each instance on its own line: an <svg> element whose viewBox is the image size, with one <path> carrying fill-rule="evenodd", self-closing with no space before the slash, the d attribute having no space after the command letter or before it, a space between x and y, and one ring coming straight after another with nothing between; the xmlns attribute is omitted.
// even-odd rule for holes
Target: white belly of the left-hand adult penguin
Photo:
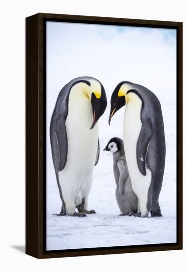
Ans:
<svg viewBox="0 0 187 272"><path fill-rule="evenodd" d="M83 198L87 201L92 186L98 145L98 124L90 130L92 120L92 104L88 97L82 96L80 99L71 91L65 122L68 139L67 162L59 172L59 182L68 214L74 213Z"/></svg>

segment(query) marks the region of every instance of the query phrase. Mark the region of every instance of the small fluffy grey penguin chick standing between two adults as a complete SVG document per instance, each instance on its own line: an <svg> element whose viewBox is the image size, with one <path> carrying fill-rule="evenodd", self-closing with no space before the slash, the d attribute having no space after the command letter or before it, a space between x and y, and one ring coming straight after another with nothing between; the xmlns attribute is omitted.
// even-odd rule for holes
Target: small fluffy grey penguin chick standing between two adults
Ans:
<svg viewBox="0 0 187 272"><path fill-rule="evenodd" d="M111 138L103 151L113 154L113 171L116 181L116 200L121 215L133 215L138 211L138 198L132 189L131 179L127 168L123 140Z"/></svg>

